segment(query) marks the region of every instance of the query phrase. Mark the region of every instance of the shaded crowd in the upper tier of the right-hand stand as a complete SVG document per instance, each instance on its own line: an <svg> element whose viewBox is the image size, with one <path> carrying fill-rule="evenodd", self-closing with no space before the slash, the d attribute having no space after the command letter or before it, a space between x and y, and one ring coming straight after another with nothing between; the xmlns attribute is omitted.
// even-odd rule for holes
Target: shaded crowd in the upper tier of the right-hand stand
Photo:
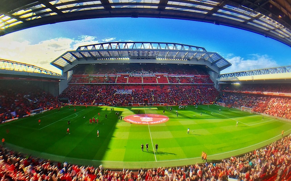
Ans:
<svg viewBox="0 0 291 181"><path fill-rule="evenodd" d="M252 84L226 84L222 85L221 90L232 91L252 91L269 93L291 93L290 83L252 83Z"/></svg>

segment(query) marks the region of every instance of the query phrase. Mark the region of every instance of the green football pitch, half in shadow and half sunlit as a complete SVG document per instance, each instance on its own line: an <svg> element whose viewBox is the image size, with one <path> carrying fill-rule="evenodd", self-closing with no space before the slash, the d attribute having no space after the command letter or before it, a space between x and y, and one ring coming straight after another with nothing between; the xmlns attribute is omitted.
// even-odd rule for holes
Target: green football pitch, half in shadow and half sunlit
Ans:
<svg viewBox="0 0 291 181"><path fill-rule="evenodd" d="M117 113L146 122L119 120ZM151 114L168 120L152 124ZM99 122L90 124L92 117ZM264 147L280 139L282 130L284 136L289 134L291 123L216 105L198 105L197 109L67 106L1 124L0 136L6 140L5 147L52 161L134 169L202 163L203 151L208 162L219 161Z"/></svg>

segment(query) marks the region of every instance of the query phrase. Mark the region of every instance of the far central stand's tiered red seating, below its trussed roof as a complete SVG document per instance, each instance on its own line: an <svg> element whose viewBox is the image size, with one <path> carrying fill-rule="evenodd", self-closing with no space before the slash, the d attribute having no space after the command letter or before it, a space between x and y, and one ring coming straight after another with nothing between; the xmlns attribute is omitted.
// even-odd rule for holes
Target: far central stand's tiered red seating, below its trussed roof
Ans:
<svg viewBox="0 0 291 181"><path fill-rule="evenodd" d="M180 65L177 68L175 65L132 63L110 67L98 64L98 68L80 65L77 68L78 74L72 76L68 88L59 96L68 98L72 104L212 104L218 95L209 75L198 66ZM79 74L81 72L84 74ZM97 76L99 73L102 75Z"/></svg>

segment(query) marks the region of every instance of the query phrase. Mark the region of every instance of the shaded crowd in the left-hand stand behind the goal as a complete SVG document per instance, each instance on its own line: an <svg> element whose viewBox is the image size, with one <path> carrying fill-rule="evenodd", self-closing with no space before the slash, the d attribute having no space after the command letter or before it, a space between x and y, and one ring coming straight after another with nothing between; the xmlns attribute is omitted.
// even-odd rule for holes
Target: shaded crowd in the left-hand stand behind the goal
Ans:
<svg viewBox="0 0 291 181"><path fill-rule="evenodd" d="M50 109L60 105L57 98L25 82L0 87L0 123L21 118L35 109Z"/></svg>

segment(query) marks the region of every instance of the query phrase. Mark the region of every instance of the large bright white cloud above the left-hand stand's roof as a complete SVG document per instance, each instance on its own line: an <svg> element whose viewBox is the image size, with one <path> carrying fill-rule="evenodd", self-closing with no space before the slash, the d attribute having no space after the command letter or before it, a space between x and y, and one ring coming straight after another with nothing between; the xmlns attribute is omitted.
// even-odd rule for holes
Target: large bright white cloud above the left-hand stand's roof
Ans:
<svg viewBox="0 0 291 181"><path fill-rule="evenodd" d="M97 37L87 35L79 36L76 40L70 38L56 38L37 43L20 40L11 41L11 37L1 36L0 58L35 65L37 67L61 74L60 69L50 64L52 61L66 51L76 50L78 46L96 43L100 43Z"/></svg>

